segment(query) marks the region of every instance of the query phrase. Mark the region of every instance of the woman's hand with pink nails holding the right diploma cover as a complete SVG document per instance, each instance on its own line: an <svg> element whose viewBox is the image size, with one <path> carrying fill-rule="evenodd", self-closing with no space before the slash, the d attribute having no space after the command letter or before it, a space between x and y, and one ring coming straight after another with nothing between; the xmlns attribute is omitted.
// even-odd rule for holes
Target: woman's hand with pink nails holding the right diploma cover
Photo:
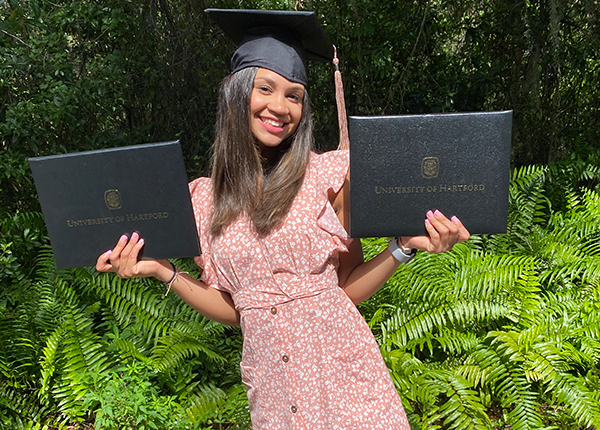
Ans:
<svg viewBox="0 0 600 430"><path fill-rule="evenodd" d="M439 254L451 250L454 245L471 236L457 217L448 219L438 210L427 212L425 228L429 236L401 237L399 243L405 248Z"/></svg>

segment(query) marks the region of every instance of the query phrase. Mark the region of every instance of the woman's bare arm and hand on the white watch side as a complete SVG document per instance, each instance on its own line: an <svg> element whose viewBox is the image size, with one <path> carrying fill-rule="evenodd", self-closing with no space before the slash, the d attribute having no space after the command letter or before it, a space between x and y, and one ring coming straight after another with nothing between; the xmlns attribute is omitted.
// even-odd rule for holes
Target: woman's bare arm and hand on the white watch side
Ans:
<svg viewBox="0 0 600 430"><path fill-rule="evenodd" d="M339 193L330 193L329 198L342 225L348 229L349 223L349 179L346 178ZM452 249L470 236L458 218L447 219L439 211L429 211L425 219L429 236L400 238L406 248L415 248L431 253ZM369 261L364 261L359 239L352 241L348 253L340 254L338 269L339 285L355 303L361 303L375 294L398 269L400 263L386 248Z"/></svg>

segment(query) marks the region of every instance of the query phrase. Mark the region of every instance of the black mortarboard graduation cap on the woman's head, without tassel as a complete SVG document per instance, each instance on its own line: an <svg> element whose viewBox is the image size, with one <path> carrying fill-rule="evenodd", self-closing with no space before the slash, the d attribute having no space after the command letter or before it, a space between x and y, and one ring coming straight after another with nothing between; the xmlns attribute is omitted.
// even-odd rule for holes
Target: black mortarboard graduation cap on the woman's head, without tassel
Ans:
<svg viewBox="0 0 600 430"><path fill-rule="evenodd" d="M305 60L331 61L333 45L315 12L253 9L206 9L238 49L231 72L263 67L307 84Z"/></svg>

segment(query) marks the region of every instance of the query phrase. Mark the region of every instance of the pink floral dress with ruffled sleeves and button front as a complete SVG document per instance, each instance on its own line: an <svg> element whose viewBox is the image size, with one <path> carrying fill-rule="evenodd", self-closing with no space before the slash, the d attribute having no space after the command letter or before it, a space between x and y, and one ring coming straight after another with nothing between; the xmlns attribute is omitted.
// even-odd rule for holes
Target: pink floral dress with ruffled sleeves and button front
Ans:
<svg viewBox="0 0 600 430"><path fill-rule="evenodd" d="M285 222L265 238L246 217L212 238L211 181L190 184L202 280L230 293L240 312L254 430L410 428L371 330L338 286L350 238L327 191L347 171L347 151L311 154Z"/></svg>

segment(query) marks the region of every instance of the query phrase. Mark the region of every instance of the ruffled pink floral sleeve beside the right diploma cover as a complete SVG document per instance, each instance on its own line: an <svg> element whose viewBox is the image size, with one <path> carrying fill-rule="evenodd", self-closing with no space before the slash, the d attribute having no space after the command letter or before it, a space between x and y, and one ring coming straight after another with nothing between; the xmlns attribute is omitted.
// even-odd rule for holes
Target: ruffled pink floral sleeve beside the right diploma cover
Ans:
<svg viewBox="0 0 600 430"><path fill-rule="evenodd" d="M347 247L351 242L350 236L340 223L333 206L331 206L327 192L333 190L337 193L344 185L350 166L349 151L336 150L314 155L311 162L314 162L317 175L316 182L322 202L317 225L331 235L338 250L347 251Z"/></svg>

